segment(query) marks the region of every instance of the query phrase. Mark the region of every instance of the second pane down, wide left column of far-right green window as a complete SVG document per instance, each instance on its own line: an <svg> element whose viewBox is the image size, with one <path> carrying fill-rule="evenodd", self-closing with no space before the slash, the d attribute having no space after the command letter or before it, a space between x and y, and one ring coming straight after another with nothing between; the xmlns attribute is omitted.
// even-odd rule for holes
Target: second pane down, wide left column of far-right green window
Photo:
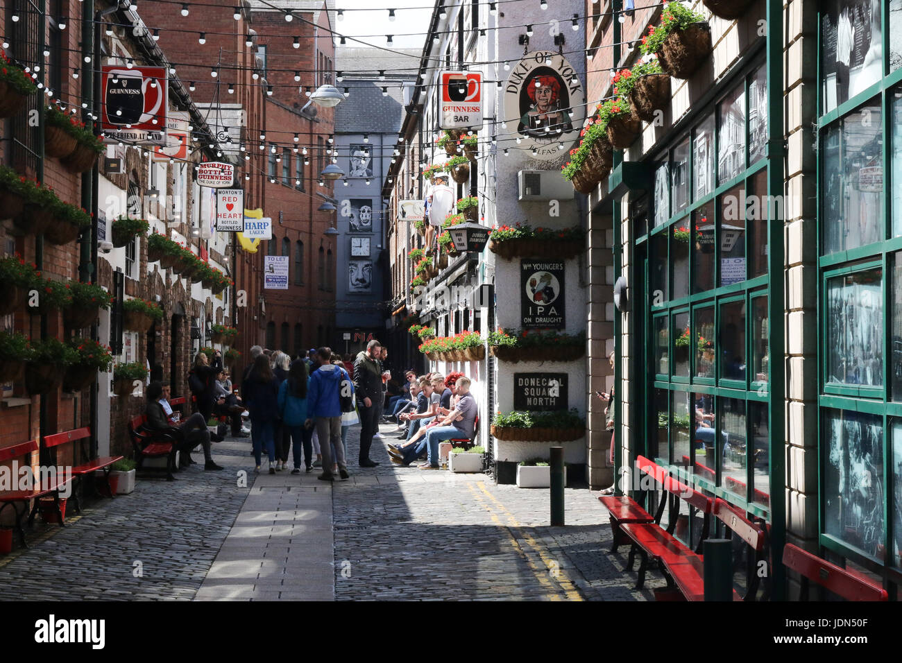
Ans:
<svg viewBox="0 0 902 663"><path fill-rule="evenodd" d="M883 239L880 197L883 132L880 106L865 106L831 124L824 138L824 252Z"/></svg>

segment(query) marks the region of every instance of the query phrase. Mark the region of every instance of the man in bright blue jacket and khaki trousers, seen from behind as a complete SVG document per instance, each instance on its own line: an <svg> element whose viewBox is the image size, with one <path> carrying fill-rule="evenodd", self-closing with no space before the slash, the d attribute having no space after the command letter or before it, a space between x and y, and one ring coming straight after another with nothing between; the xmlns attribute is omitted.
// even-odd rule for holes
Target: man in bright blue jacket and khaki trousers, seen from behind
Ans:
<svg viewBox="0 0 902 663"><path fill-rule="evenodd" d="M332 481L332 449L335 448L338 474L342 479L348 477L345 463L345 447L341 443L341 401L342 390L347 395L354 395L354 384L347 371L336 364L329 363L331 350L321 347L317 350L319 368L310 375L307 389L308 422L316 420L319 437L319 451L323 456L323 474L317 478Z"/></svg>

